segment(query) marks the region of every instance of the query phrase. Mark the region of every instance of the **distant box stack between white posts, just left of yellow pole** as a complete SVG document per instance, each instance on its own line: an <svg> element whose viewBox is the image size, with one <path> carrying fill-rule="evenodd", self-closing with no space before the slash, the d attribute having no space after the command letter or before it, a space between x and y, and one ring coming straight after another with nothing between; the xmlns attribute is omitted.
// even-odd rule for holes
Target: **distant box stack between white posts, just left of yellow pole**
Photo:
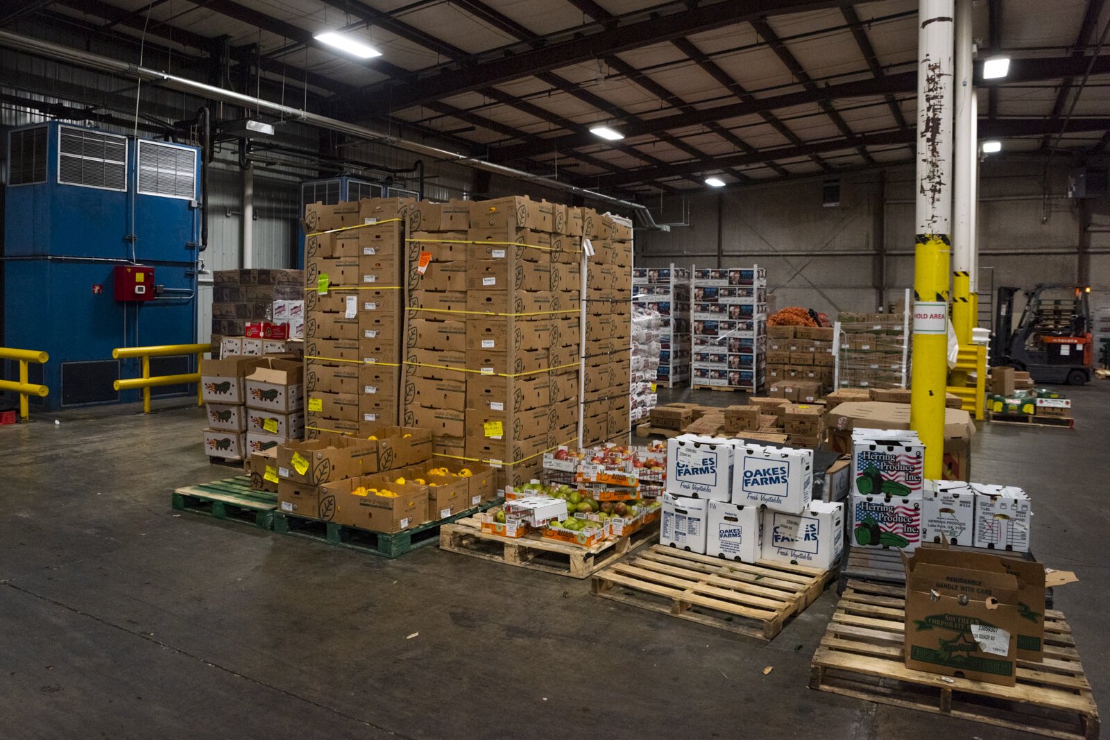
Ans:
<svg viewBox="0 0 1110 740"><path fill-rule="evenodd" d="M909 385L909 313L841 313L837 386L905 388Z"/></svg>

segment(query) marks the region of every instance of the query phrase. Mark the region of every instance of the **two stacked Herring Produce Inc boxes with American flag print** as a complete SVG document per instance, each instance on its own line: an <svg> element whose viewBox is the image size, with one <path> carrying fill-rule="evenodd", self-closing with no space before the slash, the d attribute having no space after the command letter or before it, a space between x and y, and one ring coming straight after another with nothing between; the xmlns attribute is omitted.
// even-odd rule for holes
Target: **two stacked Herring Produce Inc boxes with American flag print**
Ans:
<svg viewBox="0 0 1110 740"><path fill-rule="evenodd" d="M899 548L922 541L925 445L916 432L851 432L850 537L857 547Z"/></svg>

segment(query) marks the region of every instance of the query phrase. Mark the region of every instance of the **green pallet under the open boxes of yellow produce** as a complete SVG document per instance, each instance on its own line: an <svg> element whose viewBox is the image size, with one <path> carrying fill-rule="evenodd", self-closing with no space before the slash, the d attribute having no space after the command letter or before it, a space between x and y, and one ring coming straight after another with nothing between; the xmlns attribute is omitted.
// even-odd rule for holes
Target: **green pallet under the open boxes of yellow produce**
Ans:
<svg viewBox="0 0 1110 740"><path fill-rule="evenodd" d="M349 527L334 521L322 521L320 519L307 519L305 517L293 516L276 511L274 514L274 531L293 537L313 539L317 543L345 547L360 553L379 555L383 558L396 558L413 550L434 545L440 541L440 528L453 521L473 517L478 511L484 511L497 504L502 499L483 501L473 508L460 511L446 519L425 521L418 527L405 529L394 534L383 531L370 531L359 527Z"/></svg>

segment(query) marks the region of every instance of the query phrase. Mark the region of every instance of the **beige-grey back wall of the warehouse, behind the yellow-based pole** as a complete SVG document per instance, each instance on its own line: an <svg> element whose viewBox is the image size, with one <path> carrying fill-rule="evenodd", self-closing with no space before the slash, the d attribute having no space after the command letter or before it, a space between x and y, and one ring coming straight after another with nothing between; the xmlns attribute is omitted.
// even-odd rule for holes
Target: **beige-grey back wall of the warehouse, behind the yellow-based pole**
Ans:
<svg viewBox="0 0 1110 740"><path fill-rule="evenodd" d="M1110 291L1110 199L1068 199L1070 166L1063 156L1052 160L1046 196L1043 159L996 156L983 163L980 294L998 285L1078 281L1084 216L1089 282ZM722 264L766 266L778 307L874 311L880 298L872 268L884 247L882 302L912 285L914 170L844 176L840 185L838 207L823 206L820 179L704 192L685 203L665 199L656 221L686 225L673 225L669 234L637 231L636 264L716 266L719 205Z"/></svg>

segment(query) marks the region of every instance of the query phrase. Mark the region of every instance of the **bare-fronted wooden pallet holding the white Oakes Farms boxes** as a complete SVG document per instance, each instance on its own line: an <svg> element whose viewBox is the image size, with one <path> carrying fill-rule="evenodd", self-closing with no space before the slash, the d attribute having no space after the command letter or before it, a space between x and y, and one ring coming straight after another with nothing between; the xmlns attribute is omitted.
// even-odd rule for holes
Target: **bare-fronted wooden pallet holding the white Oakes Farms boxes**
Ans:
<svg viewBox="0 0 1110 740"><path fill-rule="evenodd" d="M723 560L656 545L594 576L594 594L770 640L817 600L834 571Z"/></svg>

